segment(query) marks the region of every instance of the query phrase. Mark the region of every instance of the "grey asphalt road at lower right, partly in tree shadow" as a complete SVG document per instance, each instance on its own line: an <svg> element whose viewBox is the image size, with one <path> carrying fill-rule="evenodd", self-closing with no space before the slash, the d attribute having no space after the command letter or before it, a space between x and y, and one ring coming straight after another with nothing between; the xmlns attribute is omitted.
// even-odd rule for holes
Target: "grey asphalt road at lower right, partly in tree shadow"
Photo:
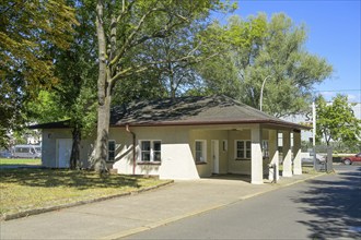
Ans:
<svg viewBox="0 0 361 240"><path fill-rule="evenodd" d="M361 166L127 239L361 239Z"/></svg>

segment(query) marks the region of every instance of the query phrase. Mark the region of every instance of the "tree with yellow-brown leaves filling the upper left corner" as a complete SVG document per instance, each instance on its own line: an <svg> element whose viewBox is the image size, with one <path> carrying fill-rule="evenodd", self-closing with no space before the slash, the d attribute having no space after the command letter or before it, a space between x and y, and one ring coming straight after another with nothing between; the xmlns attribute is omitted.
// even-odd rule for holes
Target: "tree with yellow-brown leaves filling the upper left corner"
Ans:
<svg viewBox="0 0 361 240"><path fill-rule="evenodd" d="M24 123L24 103L59 80L47 50L66 49L77 25L65 0L4 1L0 5L0 144Z"/></svg>

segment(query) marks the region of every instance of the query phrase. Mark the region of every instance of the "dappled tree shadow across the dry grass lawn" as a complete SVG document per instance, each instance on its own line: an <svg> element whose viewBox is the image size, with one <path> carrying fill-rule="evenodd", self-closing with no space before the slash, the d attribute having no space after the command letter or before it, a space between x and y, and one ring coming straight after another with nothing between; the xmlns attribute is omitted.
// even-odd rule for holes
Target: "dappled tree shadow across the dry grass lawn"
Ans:
<svg viewBox="0 0 361 240"><path fill-rule="evenodd" d="M28 187L68 187L79 190L93 188L140 188L138 178L109 175L100 177L91 171L60 169L1 169L1 183L16 183Z"/></svg>

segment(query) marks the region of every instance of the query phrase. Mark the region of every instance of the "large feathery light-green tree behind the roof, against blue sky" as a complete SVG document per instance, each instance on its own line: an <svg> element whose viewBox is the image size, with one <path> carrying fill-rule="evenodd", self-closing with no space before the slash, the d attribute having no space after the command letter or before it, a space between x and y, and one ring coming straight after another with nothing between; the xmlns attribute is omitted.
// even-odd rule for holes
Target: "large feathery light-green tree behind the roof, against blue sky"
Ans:
<svg viewBox="0 0 361 240"><path fill-rule="evenodd" d="M258 14L226 25L214 23L208 39L219 39L219 58L199 67L200 75L216 93L231 95L277 117L302 112L308 107L314 84L333 72L323 58L305 49L304 25L295 25L280 13L267 20Z"/></svg>

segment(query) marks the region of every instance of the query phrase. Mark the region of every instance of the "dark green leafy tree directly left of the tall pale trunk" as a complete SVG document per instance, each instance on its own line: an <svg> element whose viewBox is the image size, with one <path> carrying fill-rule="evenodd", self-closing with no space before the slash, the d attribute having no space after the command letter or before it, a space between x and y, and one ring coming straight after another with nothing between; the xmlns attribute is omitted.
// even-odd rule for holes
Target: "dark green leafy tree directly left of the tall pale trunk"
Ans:
<svg viewBox="0 0 361 240"><path fill-rule="evenodd" d="M42 91L27 105L28 116L36 122L68 120L72 130L70 168L79 166L82 135L94 133L96 113L96 36L92 11L94 3L68 0L79 22L68 49L54 47L48 55L54 59L54 75L58 84Z"/></svg>

